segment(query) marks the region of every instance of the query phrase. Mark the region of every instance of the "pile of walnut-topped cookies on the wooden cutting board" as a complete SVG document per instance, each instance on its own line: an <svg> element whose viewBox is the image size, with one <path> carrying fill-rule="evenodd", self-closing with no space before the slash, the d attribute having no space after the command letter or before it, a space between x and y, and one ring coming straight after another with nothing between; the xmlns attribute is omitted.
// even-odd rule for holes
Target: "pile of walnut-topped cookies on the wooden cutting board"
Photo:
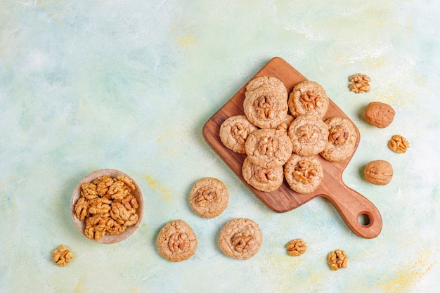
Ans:
<svg viewBox="0 0 440 293"><path fill-rule="evenodd" d="M316 155L342 162L356 147L351 121L323 121L329 103L317 82L300 82L287 93L276 77L256 77L246 86L245 115L228 117L221 124L221 142L247 155L242 176L255 189L272 192L285 178L297 193L311 193L323 178Z"/></svg>

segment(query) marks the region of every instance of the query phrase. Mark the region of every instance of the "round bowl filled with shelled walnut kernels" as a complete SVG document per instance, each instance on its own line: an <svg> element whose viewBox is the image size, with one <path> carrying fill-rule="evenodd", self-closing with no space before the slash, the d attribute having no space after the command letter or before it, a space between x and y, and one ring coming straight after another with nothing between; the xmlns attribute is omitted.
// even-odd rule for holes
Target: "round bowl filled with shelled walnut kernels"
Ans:
<svg viewBox="0 0 440 293"><path fill-rule="evenodd" d="M99 243L125 240L143 218L143 193L129 175L115 169L101 169L82 178L70 202L78 230Z"/></svg>

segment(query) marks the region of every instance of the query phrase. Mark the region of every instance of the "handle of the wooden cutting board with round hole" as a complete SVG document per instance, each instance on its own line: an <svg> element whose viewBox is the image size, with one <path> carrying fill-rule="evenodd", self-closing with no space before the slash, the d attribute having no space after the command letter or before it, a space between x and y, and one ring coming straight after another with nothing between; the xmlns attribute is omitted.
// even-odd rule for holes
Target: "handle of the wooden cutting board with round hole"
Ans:
<svg viewBox="0 0 440 293"><path fill-rule="evenodd" d="M374 238L382 230L382 216L375 205L360 193L340 185L332 194L322 195L337 209L347 226L356 235Z"/></svg>

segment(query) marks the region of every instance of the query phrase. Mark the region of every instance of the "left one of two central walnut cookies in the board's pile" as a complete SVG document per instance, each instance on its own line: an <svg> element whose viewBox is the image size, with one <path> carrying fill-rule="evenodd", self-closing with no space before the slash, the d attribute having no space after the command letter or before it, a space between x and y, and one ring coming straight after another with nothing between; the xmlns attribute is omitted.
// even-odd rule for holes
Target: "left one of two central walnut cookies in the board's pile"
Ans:
<svg viewBox="0 0 440 293"><path fill-rule="evenodd" d="M273 169L283 164L292 154L292 141L283 131L259 129L247 137L245 150L257 166Z"/></svg>

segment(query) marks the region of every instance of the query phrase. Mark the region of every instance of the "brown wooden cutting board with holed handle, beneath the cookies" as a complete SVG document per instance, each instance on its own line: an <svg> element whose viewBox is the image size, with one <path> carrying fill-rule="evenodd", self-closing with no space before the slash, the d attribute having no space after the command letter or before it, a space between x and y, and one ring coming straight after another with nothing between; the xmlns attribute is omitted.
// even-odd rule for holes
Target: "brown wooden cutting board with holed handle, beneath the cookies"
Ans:
<svg viewBox="0 0 440 293"><path fill-rule="evenodd" d="M282 58L273 58L257 74L252 77L271 76L280 79L287 87L287 92L292 92L295 84L306 80L301 73L293 68ZM252 80L250 79L250 80ZM242 176L242 163L246 155L238 154L226 148L221 143L219 129L225 119L234 115L244 115L243 100L245 99L246 85L242 86L238 93L228 100L228 102L217 111L205 124L202 130L205 141L211 148L228 164L234 173L241 179L245 185L256 195L264 204L276 212L291 211L302 204L309 202L315 197L322 196L329 200L344 219L345 223L356 235L365 238L373 238L380 234L382 230L382 216L375 205L367 198L363 197L355 190L348 188L342 181L342 172L344 171L351 157L343 162L329 162L321 155L316 155L323 166L324 176L321 185L309 194L299 194L290 188L286 181L278 190L271 193L256 190L247 184ZM342 117L349 119L335 103L330 100L328 111L323 118ZM351 119L349 119L351 121ZM361 135L355 126L358 138L356 148L358 147ZM362 222L362 223L361 223Z"/></svg>

